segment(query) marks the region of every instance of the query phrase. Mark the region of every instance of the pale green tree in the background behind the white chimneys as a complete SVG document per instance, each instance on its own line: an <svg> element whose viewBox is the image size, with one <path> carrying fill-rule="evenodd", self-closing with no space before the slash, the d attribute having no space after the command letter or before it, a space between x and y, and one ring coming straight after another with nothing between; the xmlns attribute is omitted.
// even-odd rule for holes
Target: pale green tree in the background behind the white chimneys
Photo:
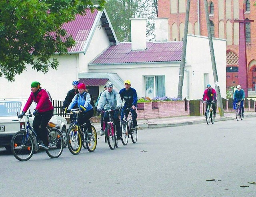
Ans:
<svg viewBox="0 0 256 197"><path fill-rule="evenodd" d="M131 41L130 18L147 19L147 39L154 39L153 19L157 18L158 0L107 0L106 11L119 41Z"/></svg>

